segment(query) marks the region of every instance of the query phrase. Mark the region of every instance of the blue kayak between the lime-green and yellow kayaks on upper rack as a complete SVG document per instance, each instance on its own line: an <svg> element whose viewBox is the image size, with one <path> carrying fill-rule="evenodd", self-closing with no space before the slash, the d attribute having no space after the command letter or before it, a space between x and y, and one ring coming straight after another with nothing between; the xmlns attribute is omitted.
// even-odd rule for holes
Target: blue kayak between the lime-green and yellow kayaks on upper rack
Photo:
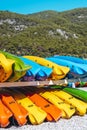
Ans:
<svg viewBox="0 0 87 130"><path fill-rule="evenodd" d="M32 68L30 68L27 72L26 75L24 76L24 80L45 80L46 78L48 78L51 73L52 73L52 69L45 67L45 66L41 66L39 64L37 64L36 62L24 58L24 57L20 57L21 60L27 64L32 66Z"/></svg>

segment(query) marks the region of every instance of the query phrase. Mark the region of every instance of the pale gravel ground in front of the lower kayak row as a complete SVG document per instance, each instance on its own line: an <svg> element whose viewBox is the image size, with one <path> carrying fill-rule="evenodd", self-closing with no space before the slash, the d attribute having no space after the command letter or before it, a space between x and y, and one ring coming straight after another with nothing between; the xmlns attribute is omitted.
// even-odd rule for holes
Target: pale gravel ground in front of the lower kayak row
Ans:
<svg viewBox="0 0 87 130"><path fill-rule="evenodd" d="M82 88L81 88L82 89ZM85 87L84 90L87 91ZM0 130L87 130L87 114L73 116L70 119L59 119L57 122L44 122L40 125L24 125L22 127L11 126Z"/></svg>

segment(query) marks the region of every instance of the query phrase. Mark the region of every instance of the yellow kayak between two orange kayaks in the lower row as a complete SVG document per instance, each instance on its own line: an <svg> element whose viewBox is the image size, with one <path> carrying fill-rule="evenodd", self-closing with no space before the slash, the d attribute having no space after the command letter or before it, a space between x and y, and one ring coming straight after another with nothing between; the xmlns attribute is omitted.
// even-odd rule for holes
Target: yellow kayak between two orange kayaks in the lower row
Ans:
<svg viewBox="0 0 87 130"><path fill-rule="evenodd" d="M41 124L47 116L47 113L40 107L37 107L28 97L19 91L12 91L15 100L20 103L28 112L29 120L32 124Z"/></svg>

